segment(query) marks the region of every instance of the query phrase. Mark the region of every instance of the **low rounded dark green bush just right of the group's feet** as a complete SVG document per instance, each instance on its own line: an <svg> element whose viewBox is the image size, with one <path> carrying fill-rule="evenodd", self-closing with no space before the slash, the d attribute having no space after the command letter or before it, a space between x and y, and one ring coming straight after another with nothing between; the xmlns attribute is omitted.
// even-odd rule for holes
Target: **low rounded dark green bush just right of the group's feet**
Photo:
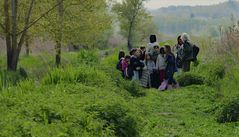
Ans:
<svg viewBox="0 0 239 137"><path fill-rule="evenodd" d="M183 73L177 77L177 81L182 87L204 84L204 78L193 73Z"/></svg>

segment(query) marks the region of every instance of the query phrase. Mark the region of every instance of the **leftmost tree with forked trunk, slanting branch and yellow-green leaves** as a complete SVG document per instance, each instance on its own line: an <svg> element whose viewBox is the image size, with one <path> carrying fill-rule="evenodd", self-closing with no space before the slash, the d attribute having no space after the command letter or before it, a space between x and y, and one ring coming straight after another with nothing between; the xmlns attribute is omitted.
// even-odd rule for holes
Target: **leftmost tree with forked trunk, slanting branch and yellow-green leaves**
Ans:
<svg viewBox="0 0 239 137"><path fill-rule="evenodd" d="M42 1L44 0L4 0L0 3L4 13L0 26L6 40L8 70L17 70L19 55L28 30L59 5L54 5L42 14L35 12L39 17L31 20L36 3Z"/></svg>

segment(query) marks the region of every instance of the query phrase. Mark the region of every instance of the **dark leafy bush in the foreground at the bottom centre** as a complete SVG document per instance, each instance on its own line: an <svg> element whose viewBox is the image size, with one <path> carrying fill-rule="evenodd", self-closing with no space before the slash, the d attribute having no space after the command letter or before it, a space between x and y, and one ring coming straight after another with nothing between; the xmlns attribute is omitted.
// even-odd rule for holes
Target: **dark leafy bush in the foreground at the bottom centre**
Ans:
<svg viewBox="0 0 239 137"><path fill-rule="evenodd" d="M104 129L112 129L117 137L135 137L138 135L137 124L134 117L130 116L127 106L120 103L103 106L93 105L86 108L89 113L94 113L98 119L104 121Z"/></svg>

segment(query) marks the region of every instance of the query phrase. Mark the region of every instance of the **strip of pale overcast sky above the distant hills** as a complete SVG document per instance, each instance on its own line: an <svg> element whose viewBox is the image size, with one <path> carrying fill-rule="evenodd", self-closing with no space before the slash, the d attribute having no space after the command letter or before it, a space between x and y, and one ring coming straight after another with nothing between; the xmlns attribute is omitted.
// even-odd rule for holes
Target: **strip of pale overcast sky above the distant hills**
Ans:
<svg viewBox="0 0 239 137"><path fill-rule="evenodd" d="M121 0L117 0L121 1ZM168 6L179 6L179 5L212 5L218 4L220 2L225 2L228 0L148 0L146 3L146 7L149 9L158 9L161 7L168 7ZM239 0L237 0L239 1Z"/></svg>

